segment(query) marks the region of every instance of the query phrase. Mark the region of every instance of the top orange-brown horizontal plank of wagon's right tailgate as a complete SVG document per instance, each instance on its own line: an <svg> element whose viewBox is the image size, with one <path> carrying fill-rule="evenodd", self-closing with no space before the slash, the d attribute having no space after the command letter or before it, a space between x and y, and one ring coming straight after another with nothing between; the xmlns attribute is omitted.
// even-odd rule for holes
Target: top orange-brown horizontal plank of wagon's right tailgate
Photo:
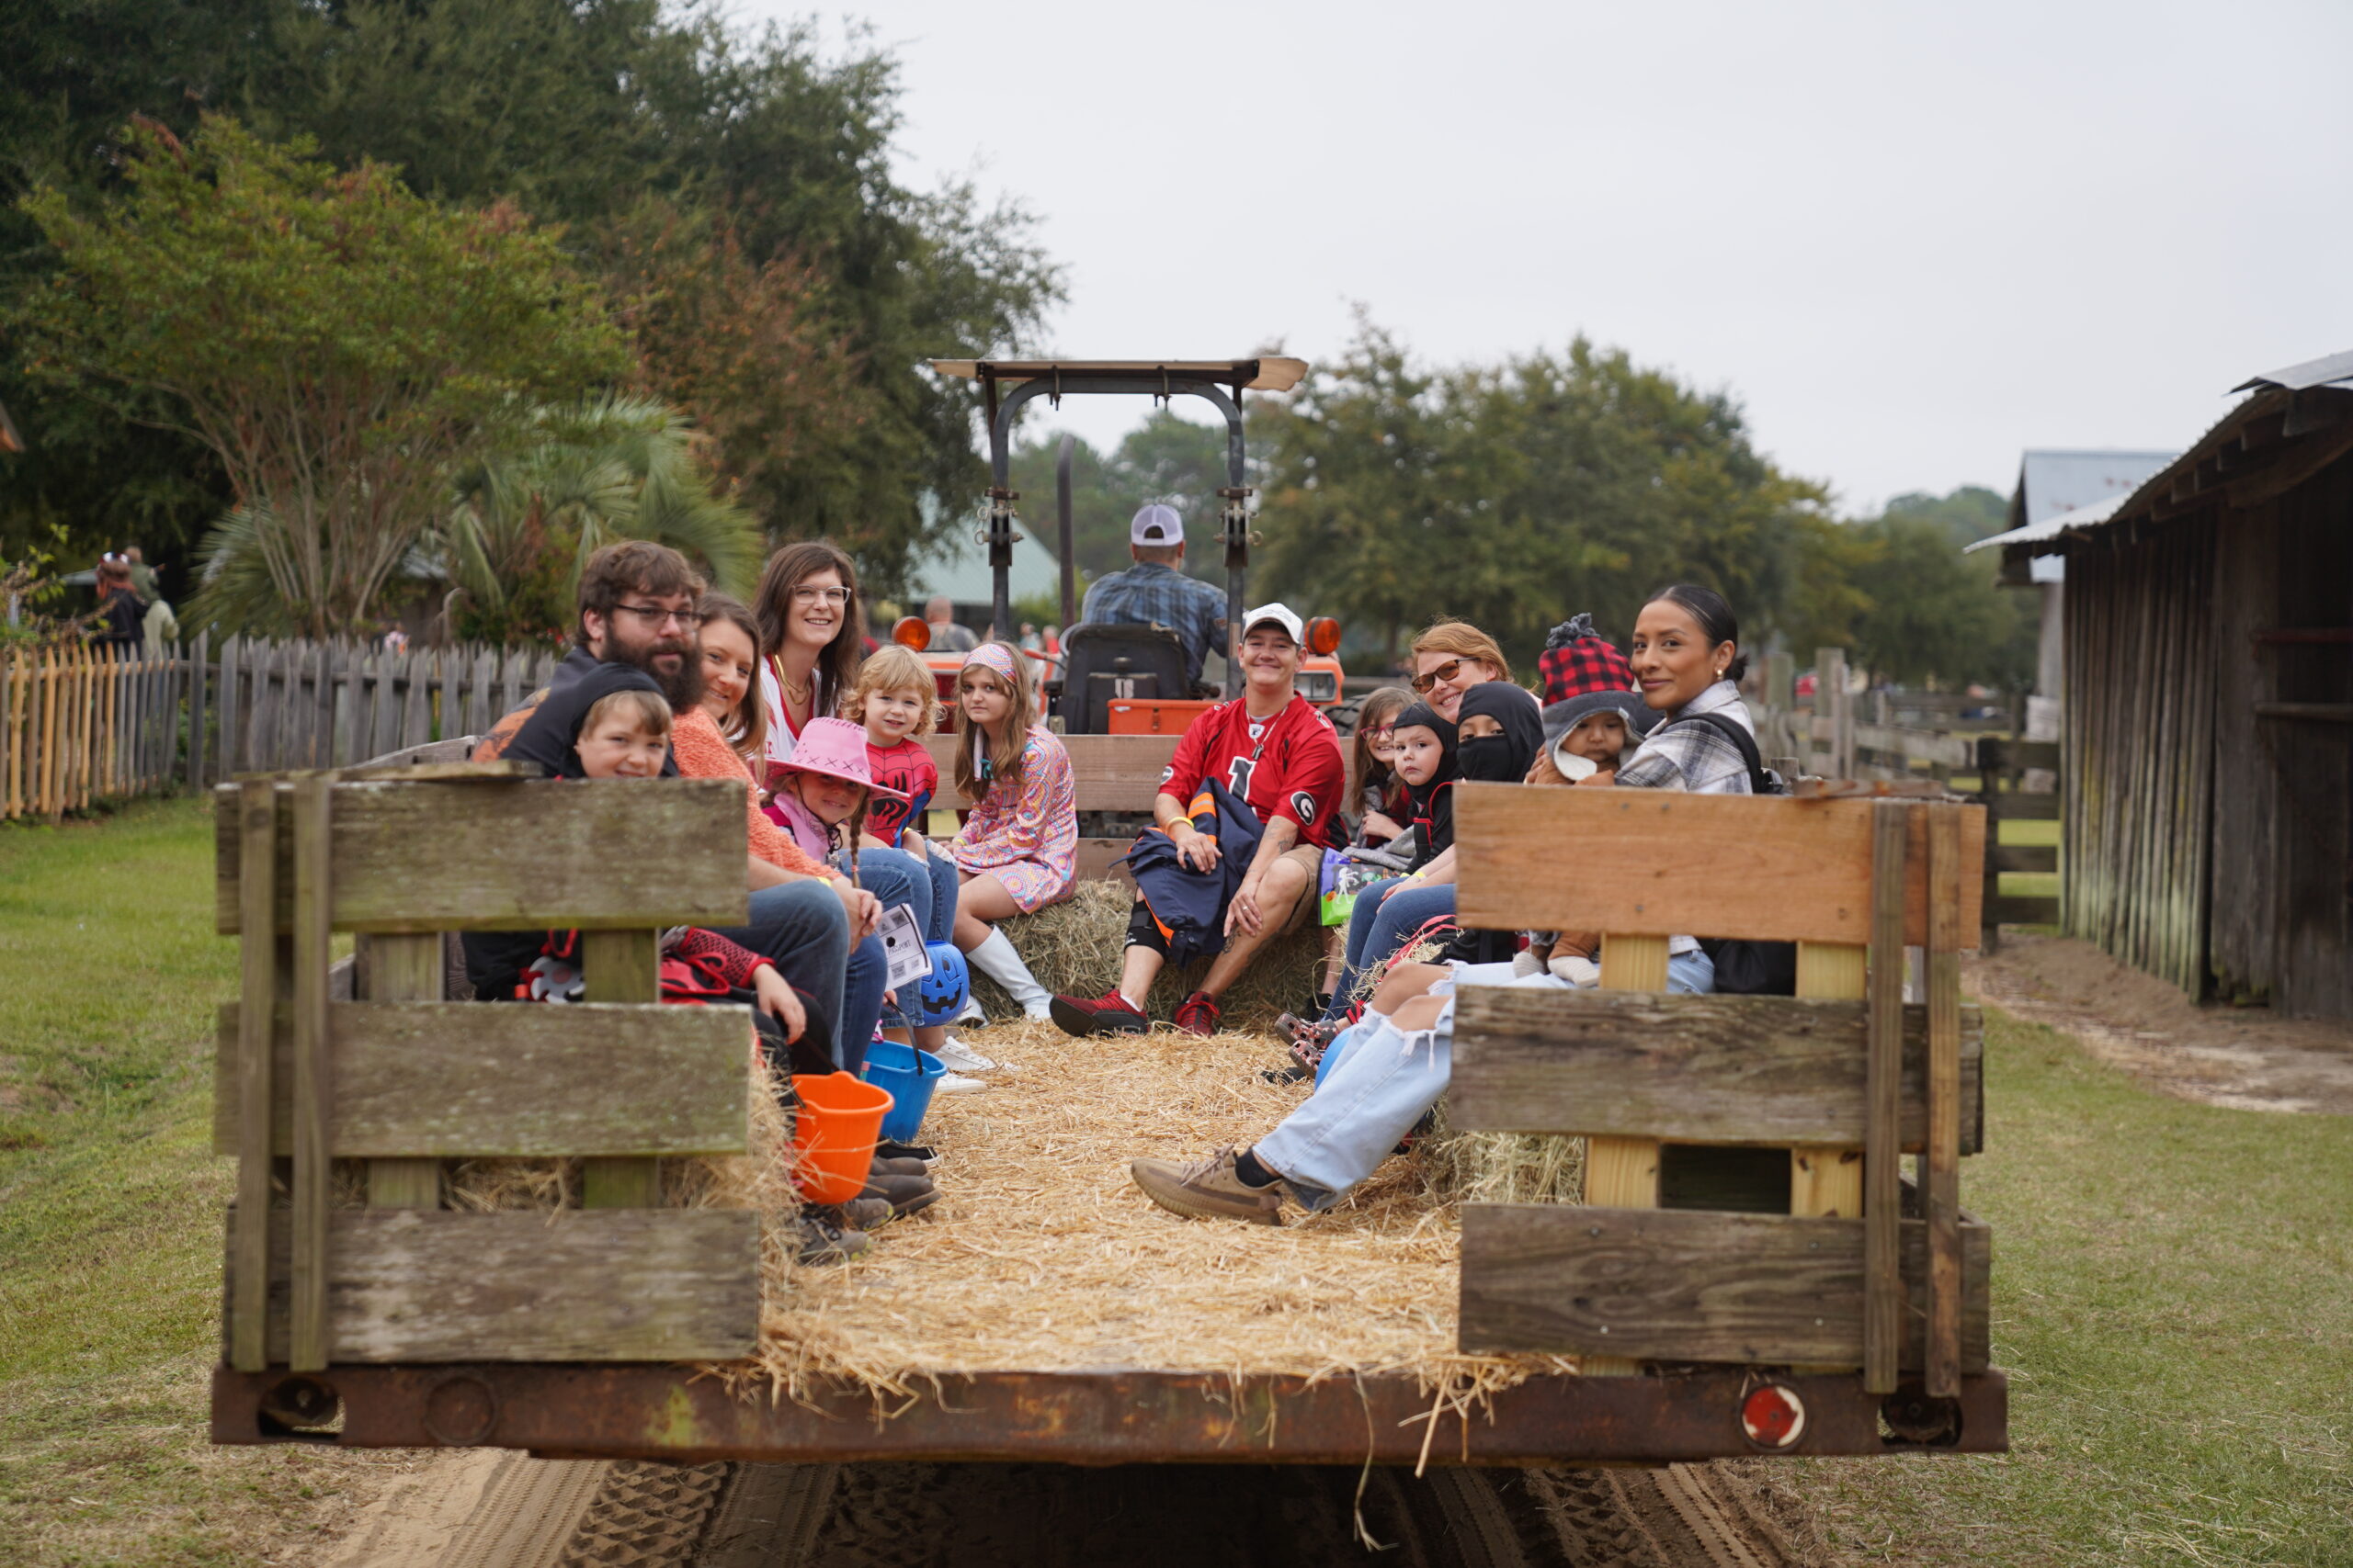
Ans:
<svg viewBox="0 0 2353 1568"><path fill-rule="evenodd" d="M1454 788L1457 910L1489 931L1642 931L1864 943L1871 802L1664 790ZM1915 865L1927 820L1908 813ZM1986 818L1969 809L1974 889ZM1529 877L1541 846L1577 844L1574 877ZM1906 886L1904 940L1927 940L1927 875Z"/></svg>

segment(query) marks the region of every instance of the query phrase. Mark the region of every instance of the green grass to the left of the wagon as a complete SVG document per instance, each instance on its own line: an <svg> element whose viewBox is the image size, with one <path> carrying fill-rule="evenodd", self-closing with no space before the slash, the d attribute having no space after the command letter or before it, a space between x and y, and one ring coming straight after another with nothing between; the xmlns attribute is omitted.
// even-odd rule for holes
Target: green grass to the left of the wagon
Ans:
<svg viewBox="0 0 2353 1568"><path fill-rule="evenodd" d="M212 811L0 830L0 1563L304 1556L341 1455L212 1448Z"/></svg>

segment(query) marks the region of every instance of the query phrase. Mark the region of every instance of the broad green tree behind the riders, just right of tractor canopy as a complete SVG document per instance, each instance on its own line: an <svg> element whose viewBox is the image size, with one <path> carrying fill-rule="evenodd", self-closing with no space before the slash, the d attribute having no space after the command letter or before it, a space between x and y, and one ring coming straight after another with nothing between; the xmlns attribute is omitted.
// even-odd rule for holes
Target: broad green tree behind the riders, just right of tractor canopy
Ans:
<svg viewBox="0 0 2353 1568"><path fill-rule="evenodd" d="M1534 661L1574 611L1624 639L1649 590L1720 590L1760 639L1786 618L1817 484L1748 442L1739 404L1584 339L1424 369L1372 322L1332 369L1254 411L1266 567L1294 604L1395 649L1438 618Z"/></svg>

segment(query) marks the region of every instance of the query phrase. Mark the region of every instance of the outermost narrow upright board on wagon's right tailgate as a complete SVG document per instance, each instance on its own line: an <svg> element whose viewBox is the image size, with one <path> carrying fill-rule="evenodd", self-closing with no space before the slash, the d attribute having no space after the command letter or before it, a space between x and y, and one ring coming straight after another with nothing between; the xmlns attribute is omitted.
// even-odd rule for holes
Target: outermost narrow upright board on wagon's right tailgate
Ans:
<svg viewBox="0 0 2353 1568"><path fill-rule="evenodd" d="M1927 1392L1960 1394L1960 1143L1969 1112L1960 1058L1960 818L1934 806L1927 818L1927 1150L1920 1157L1920 1206L1927 1218Z"/></svg>

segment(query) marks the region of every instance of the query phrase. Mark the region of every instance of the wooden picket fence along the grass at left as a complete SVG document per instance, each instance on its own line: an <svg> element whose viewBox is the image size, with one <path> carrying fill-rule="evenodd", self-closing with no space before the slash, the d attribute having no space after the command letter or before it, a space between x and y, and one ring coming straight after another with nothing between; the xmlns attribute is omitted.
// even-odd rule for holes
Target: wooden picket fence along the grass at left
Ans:
<svg viewBox="0 0 2353 1568"><path fill-rule="evenodd" d="M0 820L329 769L489 729L555 649L391 651L205 632L165 649L0 649Z"/></svg>

